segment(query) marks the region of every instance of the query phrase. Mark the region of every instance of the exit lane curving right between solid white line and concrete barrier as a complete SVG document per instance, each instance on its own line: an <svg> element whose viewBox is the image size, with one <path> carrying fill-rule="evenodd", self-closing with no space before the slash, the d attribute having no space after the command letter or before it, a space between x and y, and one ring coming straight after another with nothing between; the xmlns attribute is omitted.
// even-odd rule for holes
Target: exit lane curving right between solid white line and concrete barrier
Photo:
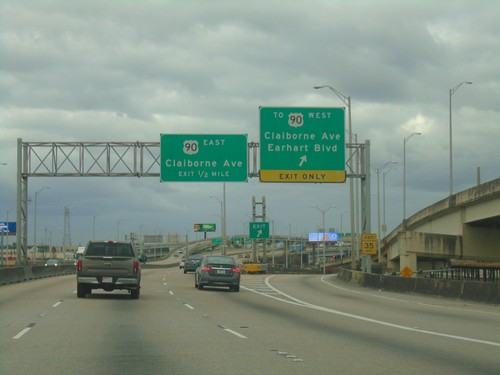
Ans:
<svg viewBox="0 0 500 375"><path fill-rule="evenodd" d="M301 301L379 324L500 343L500 311L496 306L351 287L333 276L282 275L269 280L278 290L293 293Z"/></svg>

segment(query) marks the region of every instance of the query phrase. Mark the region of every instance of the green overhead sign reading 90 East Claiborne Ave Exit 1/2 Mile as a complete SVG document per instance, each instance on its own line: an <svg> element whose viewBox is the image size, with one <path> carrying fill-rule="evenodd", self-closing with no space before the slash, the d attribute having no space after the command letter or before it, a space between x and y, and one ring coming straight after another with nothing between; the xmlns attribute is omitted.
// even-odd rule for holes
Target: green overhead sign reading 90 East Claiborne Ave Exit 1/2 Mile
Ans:
<svg viewBox="0 0 500 375"><path fill-rule="evenodd" d="M161 134L160 181L247 181L246 134Z"/></svg>

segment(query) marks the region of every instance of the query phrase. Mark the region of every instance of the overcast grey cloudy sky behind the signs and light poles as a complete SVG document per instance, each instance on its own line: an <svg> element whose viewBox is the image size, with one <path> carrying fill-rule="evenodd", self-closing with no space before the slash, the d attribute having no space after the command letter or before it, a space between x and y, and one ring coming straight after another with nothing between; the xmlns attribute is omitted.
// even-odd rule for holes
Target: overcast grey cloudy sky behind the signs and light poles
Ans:
<svg viewBox="0 0 500 375"><path fill-rule="evenodd" d="M449 194L449 93L454 191L500 177L500 2L11 1L0 3L1 220L15 221L17 139L159 142L162 133L248 134L259 106L342 107L369 140L372 232L375 170L386 175L388 231ZM389 167L386 169L388 170ZM159 170L157 171L159 172ZM217 223L222 183L159 178L29 179L28 242L72 244L130 232L179 233ZM382 193L382 192L381 192ZM226 183L227 233L242 233L252 196L265 196L280 234L349 231L345 184ZM215 198L212 198L215 197ZM342 223L341 223L342 217ZM119 223L119 225L118 225Z"/></svg>

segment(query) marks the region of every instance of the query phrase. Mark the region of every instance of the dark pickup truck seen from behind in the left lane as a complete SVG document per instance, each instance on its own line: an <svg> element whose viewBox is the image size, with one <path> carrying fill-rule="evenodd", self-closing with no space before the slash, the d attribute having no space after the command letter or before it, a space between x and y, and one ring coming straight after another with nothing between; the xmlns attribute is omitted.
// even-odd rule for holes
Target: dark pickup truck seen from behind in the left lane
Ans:
<svg viewBox="0 0 500 375"><path fill-rule="evenodd" d="M78 298L92 289L127 289L130 297L139 298L141 266L129 242L90 241L76 263Z"/></svg>

